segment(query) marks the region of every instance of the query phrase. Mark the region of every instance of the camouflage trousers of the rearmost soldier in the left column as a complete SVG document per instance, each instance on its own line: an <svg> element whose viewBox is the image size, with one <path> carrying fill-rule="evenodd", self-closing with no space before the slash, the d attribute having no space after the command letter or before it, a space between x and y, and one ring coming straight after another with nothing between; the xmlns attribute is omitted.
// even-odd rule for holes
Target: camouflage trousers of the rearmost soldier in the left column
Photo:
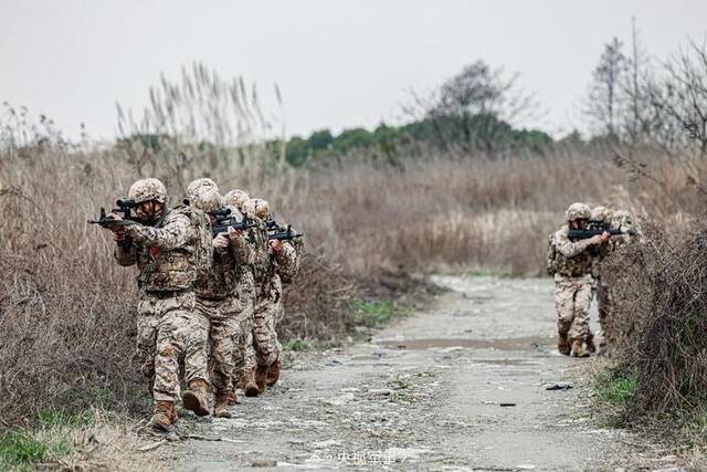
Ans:
<svg viewBox="0 0 707 472"><path fill-rule="evenodd" d="M270 366L278 357L282 346L277 340L275 327L283 318L284 306L282 296L275 301L267 297L257 300L253 316L253 349L255 361L260 366Z"/></svg>

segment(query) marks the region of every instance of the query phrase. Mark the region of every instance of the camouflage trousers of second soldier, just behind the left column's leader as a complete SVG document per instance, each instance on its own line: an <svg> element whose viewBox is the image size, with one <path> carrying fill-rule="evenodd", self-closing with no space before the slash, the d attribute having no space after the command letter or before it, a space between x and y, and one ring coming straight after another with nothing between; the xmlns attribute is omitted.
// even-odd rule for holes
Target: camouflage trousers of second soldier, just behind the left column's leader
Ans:
<svg viewBox="0 0 707 472"><path fill-rule="evenodd" d="M238 296L222 300L197 297L197 312L209 319L213 391L215 395L226 394L233 389L236 340L241 337L243 317L247 313Z"/></svg>

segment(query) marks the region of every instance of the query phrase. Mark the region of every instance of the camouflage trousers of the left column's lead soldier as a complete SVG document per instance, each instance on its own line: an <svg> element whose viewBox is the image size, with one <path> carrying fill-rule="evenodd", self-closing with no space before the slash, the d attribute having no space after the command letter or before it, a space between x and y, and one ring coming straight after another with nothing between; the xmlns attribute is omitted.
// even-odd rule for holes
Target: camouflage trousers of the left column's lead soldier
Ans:
<svg viewBox="0 0 707 472"><path fill-rule="evenodd" d="M138 302L137 356L157 401L175 401L179 397L181 355L186 381L208 381L209 321L194 311L194 305L193 292L172 296L146 292Z"/></svg>

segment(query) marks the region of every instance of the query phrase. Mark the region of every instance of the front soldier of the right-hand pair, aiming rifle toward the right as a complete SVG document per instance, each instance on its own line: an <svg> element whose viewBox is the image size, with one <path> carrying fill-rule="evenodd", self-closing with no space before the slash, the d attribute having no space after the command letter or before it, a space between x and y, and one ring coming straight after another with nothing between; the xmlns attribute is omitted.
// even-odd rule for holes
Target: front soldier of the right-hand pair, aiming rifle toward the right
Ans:
<svg viewBox="0 0 707 472"><path fill-rule="evenodd" d="M548 272L555 275L555 304L558 315L558 349L564 355L587 357L584 344L590 337L589 307L592 298L592 264L589 251L609 239L608 233L572 241L569 229L587 229L591 209L585 203L572 203L566 213L567 223L550 235Z"/></svg>

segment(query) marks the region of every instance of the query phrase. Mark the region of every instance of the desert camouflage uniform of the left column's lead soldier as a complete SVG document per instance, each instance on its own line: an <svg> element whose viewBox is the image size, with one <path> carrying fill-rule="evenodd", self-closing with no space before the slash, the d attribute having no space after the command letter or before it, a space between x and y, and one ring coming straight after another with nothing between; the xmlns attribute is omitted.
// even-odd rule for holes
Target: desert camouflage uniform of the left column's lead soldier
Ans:
<svg viewBox="0 0 707 472"><path fill-rule="evenodd" d="M120 265L137 264L140 289L138 303L137 354L143 374L152 379L157 401L175 401L179 395L178 358L184 355L187 381L208 381L208 319L194 312L194 283L199 258L211 234L194 224L204 219L191 209L165 207L154 227L133 224L125 228L133 243L118 247L115 258Z"/></svg>

